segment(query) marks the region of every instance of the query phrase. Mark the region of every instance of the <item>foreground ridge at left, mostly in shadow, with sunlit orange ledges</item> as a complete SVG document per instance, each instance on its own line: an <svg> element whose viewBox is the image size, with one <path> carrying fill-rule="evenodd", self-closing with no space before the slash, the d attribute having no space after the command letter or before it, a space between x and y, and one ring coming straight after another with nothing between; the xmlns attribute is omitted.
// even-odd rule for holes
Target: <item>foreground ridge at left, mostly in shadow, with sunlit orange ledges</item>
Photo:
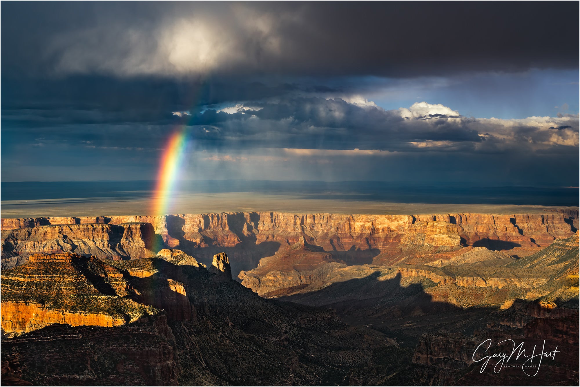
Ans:
<svg viewBox="0 0 580 387"><path fill-rule="evenodd" d="M336 385L352 369L375 364L375 349L392 345L332 311L260 298L231 279L225 254L215 256L214 273L179 265L193 262L183 255L169 250L129 261L33 255L3 270L2 302L11 304L2 307L2 380ZM126 302L151 313L129 320L134 310L122 309ZM90 320L89 313L103 318ZM115 313L124 317L121 325L96 326L111 325L104 316Z"/></svg>

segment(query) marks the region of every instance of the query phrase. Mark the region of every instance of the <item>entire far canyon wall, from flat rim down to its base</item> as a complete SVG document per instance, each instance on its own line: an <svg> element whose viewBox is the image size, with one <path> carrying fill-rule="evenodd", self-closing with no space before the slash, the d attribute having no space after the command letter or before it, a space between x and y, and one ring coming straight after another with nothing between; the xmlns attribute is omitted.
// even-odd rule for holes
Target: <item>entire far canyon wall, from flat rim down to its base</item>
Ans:
<svg viewBox="0 0 580 387"><path fill-rule="evenodd" d="M439 253L465 246L511 249L528 254L578 228L578 210L546 214L340 215L235 212L167 216L92 216L1 219L2 267L34 252L120 258L154 255L178 248L211 264L226 251L234 275L258 266L301 237L324 251L339 252L349 264L389 265L400 245L437 247ZM393 253L393 249L398 254ZM427 251L428 252L428 251ZM419 256L422 252L412 252ZM410 253L409 253L410 254ZM407 255L409 255L407 254ZM416 262L410 262L416 263ZM421 262L426 263L426 262Z"/></svg>

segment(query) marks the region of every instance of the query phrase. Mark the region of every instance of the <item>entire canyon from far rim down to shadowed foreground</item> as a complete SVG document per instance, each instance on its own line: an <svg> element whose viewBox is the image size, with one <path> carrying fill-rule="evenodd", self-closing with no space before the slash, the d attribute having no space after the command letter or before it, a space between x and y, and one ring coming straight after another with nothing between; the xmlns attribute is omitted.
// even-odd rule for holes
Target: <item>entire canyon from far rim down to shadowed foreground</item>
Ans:
<svg viewBox="0 0 580 387"><path fill-rule="evenodd" d="M46 217L1 228L3 381L530 383L521 368L480 373L470 359L503 338L562 350L531 384L578 384L578 208ZM50 363L57 348L68 352ZM83 359L75 369L71 356Z"/></svg>

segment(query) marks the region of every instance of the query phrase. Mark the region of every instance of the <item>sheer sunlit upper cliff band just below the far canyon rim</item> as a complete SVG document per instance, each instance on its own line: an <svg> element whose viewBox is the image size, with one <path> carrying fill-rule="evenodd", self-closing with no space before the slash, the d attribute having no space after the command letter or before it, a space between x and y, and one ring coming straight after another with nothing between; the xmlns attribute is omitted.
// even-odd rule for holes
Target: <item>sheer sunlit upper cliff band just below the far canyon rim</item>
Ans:
<svg viewBox="0 0 580 387"><path fill-rule="evenodd" d="M380 246L391 238L417 234L425 243L435 235L458 235L466 244L488 238L545 245L556 237L570 236L578 228L578 210L563 209L546 214L444 214L444 215L341 215L341 214L288 214L284 212L234 212L198 215L166 216L93 216L70 218L1 219L3 231L30 229L49 225L123 225L148 223L155 234L164 240L184 237L198 245L205 238L227 245L239 243L241 238L256 236L258 243L280 240L284 236L296 243L298 237L309 238L343 236L344 242ZM76 228L75 228L76 229ZM78 230L83 230L78 227ZM573 232L572 231L572 232ZM173 234L173 235L172 235ZM180 235L181 234L181 235ZM396 234L396 235L395 235ZM258 237L259 236L259 237ZM350 237L347 237L350 236ZM390 238L388 237L390 236ZM329 238L329 239L330 239ZM365 240L369 238L369 240ZM452 238L455 241L455 238ZM531 241L533 239L534 241ZM169 239L171 243L171 239ZM435 243L438 244L438 243ZM321 245L321 244L318 244ZM325 246L330 247L330 240ZM364 247L364 245L362 246Z"/></svg>

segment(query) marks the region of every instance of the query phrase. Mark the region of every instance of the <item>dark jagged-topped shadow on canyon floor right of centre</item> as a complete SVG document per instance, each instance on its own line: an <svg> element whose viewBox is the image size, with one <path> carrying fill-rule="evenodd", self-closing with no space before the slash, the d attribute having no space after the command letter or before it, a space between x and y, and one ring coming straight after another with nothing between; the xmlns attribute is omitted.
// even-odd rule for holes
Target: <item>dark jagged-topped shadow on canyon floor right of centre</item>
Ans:
<svg viewBox="0 0 580 387"><path fill-rule="evenodd" d="M332 308L348 324L367 325L397 339L403 346L415 346L426 332L461 332L473 335L485 325L485 318L496 308L461 308L449 302L433 301L426 288L436 284L429 279L408 286L401 274L379 280L380 272L321 290L283 296L278 299Z"/></svg>

